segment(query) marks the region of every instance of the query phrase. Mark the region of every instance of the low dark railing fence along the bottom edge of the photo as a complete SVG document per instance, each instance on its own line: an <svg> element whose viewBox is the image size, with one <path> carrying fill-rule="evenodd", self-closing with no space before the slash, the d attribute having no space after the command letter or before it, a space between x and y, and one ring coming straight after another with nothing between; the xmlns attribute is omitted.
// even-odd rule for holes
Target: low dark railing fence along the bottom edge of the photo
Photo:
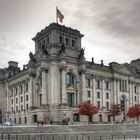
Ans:
<svg viewBox="0 0 140 140"><path fill-rule="evenodd" d="M0 134L0 140L140 140L140 136L94 136L92 134Z"/></svg>

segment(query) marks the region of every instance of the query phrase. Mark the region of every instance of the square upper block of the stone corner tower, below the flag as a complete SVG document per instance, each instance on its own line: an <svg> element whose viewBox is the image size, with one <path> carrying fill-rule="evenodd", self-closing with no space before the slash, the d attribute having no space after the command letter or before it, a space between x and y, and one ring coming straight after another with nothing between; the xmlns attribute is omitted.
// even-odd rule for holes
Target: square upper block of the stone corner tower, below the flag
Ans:
<svg viewBox="0 0 140 140"><path fill-rule="evenodd" d="M82 37L83 35L78 30L52 23L33 38L35 54L44 51L48 55L60 55L65 51L67 56L71 56L73 52L73 57L76 58L81 50Z"/></svg>

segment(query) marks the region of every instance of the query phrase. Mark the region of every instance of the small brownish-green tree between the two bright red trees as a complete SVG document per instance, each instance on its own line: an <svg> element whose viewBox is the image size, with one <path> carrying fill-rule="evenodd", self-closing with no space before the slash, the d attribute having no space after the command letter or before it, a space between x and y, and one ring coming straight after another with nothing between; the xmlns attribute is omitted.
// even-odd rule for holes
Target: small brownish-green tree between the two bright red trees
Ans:
<svg viewBox="0 0 140 140"><path fill-rule="evenodd" d="M115 122L115 117L121 115L121 107L119 104L113 104L109 110L109 115L113 117L113 122Z"/></svg>

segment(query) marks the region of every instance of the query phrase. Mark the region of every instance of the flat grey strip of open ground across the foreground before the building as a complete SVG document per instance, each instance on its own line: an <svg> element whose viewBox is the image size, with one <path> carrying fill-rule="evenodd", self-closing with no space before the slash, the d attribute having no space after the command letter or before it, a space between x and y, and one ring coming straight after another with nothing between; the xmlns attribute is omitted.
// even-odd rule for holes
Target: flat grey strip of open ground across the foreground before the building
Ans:
<svg viewBox="0 0 140 140"><path fill-rule="evenodd" d="M0 127L0 140L140 139L139 124Z"/></svg>

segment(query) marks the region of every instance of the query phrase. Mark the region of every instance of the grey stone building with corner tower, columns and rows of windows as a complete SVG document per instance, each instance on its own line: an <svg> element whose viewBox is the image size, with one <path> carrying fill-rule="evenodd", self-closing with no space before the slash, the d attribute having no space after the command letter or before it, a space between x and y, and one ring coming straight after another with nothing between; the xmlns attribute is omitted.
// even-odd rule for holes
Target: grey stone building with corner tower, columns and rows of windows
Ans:
<svg viewBox="0 0 140 140"><path fill-rule="evenodd" d="M35 54L30 52L23 70L13 61L12 69L1 69L4 120L24 124L69 118L71 124L81 123L85 118L78 115L78 105L89 100L100 109L91 121L111 121L106 112L112 104L121 104L121 121L140 102L140 59L109 66L93 58L88 62L82 37L78 30L52 23L33 38Z"/></svg>

